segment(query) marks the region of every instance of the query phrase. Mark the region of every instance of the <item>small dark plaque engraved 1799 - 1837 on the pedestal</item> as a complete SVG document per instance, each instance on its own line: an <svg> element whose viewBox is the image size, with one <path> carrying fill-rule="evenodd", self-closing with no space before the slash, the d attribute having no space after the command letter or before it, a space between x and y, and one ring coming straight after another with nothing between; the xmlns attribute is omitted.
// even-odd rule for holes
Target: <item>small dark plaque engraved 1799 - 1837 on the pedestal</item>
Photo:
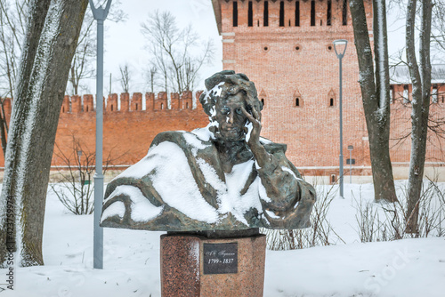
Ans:
<svg viewBox="0 0 445 297"><path fill-rule="evenodd" d="M238 244L204 244L204 274L238 273Z"/></svg>

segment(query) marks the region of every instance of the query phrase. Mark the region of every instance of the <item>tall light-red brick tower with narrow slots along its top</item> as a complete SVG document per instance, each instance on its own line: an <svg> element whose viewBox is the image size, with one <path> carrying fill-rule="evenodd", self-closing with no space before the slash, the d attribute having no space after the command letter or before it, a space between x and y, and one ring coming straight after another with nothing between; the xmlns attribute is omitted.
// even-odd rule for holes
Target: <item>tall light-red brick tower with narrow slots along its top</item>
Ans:
<svg viewBox="0 0 445 297"><path fill-rule="evenodd" d="M344 165L346 169L352 145L354 167L361 168L357 173L369 175L368 132L346 0L212 2L223 36L223 68L255 82L264 103L263 136L286 143L287 157L306 175L338 174L339 69L333 41L348 40L343 59ZM365 4L371 24L372 2Z"/></svg>

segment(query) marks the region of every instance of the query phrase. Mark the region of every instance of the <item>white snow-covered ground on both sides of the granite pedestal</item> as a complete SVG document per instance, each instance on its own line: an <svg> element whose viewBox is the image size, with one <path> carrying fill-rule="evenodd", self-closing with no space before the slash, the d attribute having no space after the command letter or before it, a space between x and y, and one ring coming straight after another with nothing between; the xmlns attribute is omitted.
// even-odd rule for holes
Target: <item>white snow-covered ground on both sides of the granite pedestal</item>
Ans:
<svg viewBox="0 0 445 297"><path fill-rule="evenodd" d="M264 296L445 296L445 237L361 244L352 196L372 201L372 185L345 184L344 193L328 220L346 245L267 251ZM14 291L0 296L160 296L161 234L104 229L104 269L93 269L93 215L69 214L49 195L45 265L15 268ZM0 288L5 278L1 269Z"/></svg>

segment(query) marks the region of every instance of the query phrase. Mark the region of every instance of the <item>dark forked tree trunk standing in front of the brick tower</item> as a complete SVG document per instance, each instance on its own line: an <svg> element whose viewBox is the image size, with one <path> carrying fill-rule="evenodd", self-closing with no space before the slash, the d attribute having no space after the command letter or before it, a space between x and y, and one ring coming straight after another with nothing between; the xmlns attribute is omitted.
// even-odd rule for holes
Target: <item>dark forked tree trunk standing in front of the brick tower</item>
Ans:
<svg viewBox="0 0 445 297"><path fill-rule="evenodd" d="M363 1L351 0L352 26L359 59L360 88L368 128L369 152L376 201L397 201L389 153L389 68L384 0L375 0L374 36L376 72Z"/></svg>

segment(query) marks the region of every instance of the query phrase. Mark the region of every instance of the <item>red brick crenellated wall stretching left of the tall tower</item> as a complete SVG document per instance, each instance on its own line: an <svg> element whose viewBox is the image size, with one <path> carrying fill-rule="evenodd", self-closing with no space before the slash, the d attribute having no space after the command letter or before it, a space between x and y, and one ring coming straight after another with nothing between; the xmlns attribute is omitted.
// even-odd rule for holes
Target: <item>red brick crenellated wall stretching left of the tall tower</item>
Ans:
<svg viewBox="0 0 445 297"><path fill-rule="evenodd" d="M199 94L199 93L198 93ZM197 94L197 96L198 96ZM167 109L166 93L146 93L146 110L142 110L142 93L136 92L130 98L128 93L120 95L121 106L117 109L117 94L107 99L103 113L103 156L110 155L118 159L113 165L132 165L147 154L151 140L164 131L191 131L208 124L208 117L198 104L192 109L192 93L181 96L171 94L172 107ZM11 100L6 100L5 113L9 122ZM163 109L161 109L161 103ZM183 106L183 108L181 108ZM111 111L112 107L112 111ZM93 96L66 96L61 107L61 116L56 134L56 144L61 152L71 159L77 157L73 151L73 135L82 144L84 157L87 152L95 151L96 114L93 108ZM54 148L54 152L58 148ZM56 154L52 165L66 165ZM3 154L0 154L0 166L4 166Z"/></svg>

